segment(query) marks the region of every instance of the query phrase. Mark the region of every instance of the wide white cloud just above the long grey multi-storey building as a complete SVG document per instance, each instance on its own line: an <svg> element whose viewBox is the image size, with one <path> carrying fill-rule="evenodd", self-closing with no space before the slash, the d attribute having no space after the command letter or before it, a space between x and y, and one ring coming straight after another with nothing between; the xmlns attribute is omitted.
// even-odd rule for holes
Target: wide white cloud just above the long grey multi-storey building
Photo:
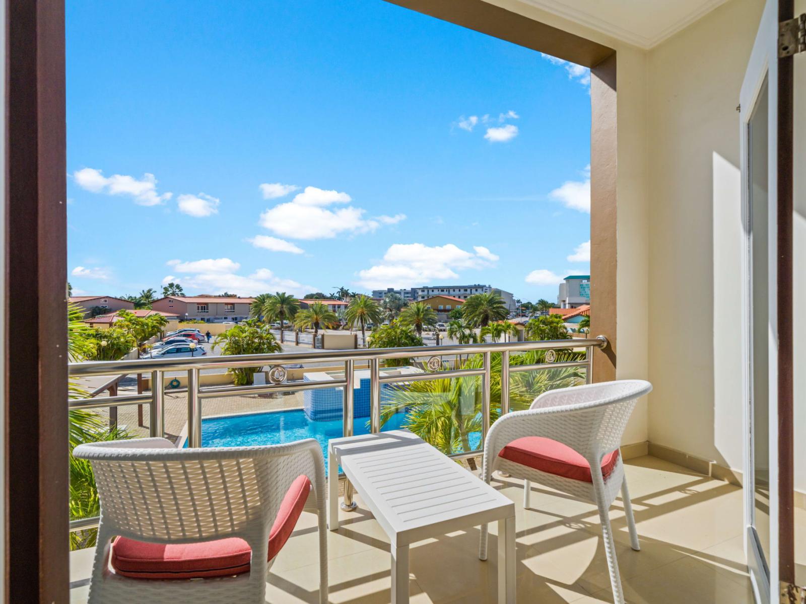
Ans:
<svg viewBox="0 0 806 604"><path fill-rule="evenodd" d="M486 247L462 250L452 243L426 246L422 243L396 243L384 254L383 261L359 271L358 284L368 289L406 288L432 279L458 279L456 271L492 267L496 254Z"/></svg>

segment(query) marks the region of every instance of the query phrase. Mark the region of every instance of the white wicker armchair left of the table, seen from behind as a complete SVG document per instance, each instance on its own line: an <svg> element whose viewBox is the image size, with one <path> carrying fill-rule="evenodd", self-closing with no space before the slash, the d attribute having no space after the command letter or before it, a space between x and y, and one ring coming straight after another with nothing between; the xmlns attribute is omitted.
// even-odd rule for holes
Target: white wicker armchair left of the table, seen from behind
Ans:
<svg viewBox="0 0 806 604"><path fill-rule="evenodd" d="M91 462L101 500L89 604L262 604L276 559L268 560L272 523L295 479L308 488L302 475L312 487L305 509L318 515L319 602L327 602L325 465L317 441L177 449L164 438L145 438L79 445L73 455ZM251 560L248 572L242 566L227 577L124 577L110 568L115 536L172 547L238 537Z"/></svg>

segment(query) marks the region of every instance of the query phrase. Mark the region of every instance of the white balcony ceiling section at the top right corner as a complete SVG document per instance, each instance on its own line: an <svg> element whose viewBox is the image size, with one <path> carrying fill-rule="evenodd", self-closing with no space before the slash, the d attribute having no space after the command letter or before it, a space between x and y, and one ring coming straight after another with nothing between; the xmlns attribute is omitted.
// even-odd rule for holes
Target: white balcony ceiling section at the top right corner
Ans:
<svg viewBox="0 0 806 604"><path fill-rule="evenodd" d="M518 0L650 49L726 0Z"/></svg>

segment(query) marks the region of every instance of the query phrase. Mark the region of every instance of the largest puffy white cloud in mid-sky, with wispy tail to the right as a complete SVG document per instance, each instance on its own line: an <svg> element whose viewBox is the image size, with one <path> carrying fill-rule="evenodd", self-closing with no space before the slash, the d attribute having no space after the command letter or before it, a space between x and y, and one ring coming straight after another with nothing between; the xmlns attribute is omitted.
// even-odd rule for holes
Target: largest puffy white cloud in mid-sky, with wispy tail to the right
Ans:
<svg viewBox="0 0 806 604"><path fill-rule="evenodd" d="M365 210L352 205L339 209L322 207L350 201L352 198L345 192L305 187L292 201L275 205L261 213L258 224L280 237L329 239L342 233L368 233L381 224L392 225L405 219L405 214L365 218Z"/></svg>

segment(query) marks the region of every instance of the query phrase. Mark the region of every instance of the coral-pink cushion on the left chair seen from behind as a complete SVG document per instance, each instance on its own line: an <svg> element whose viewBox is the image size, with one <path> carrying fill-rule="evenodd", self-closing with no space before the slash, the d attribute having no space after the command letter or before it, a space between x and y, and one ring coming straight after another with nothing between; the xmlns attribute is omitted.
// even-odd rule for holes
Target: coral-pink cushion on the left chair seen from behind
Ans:
<svg viewBox="0 0 806 604"><path fill-rule="evenodd" d="M272 560L289 540L310 494L304 474L285 493L268 537ZM118 537L112 544L114 571L136 579L197 579L226 577L249 572L251 548L243 539L229 537L190 544L155 544Z"/></svg>

